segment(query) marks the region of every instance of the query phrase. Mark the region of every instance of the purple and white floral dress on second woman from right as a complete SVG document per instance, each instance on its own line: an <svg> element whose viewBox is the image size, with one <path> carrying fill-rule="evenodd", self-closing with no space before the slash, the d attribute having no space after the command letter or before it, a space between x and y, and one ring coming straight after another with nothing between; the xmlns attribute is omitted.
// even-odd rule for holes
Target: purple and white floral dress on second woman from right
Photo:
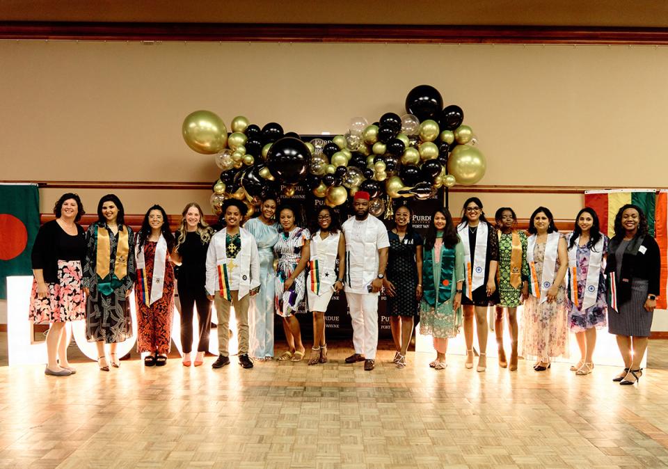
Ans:
<svg viewBox="0 0 668 469"><path fill-rule="evenodd" d="M603 253L607 252L608 239L603 236ZM578 262L578 301L582 304L584 299L584 289L587 287L587 270L589 269L589 257L591 257L591 248L587 244L584 246L573 246L578 249L575 258ZM605 287L605 265L601 267L601 273L598 274L598 289L596 291L596 304L590 306L584 311L580 311L578 306L571 304L571 312L568 314L568 324L571 331L578 333L595 327L597 329L607 326L607 300Z"/></svg>

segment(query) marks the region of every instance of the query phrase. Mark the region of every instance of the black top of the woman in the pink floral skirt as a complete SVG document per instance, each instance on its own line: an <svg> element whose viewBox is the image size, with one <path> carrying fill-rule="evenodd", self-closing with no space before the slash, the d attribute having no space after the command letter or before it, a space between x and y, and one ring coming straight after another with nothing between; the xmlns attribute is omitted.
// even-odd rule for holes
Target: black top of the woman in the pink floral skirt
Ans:
<svg viewBox="0 0 668 469"><path fill-rule="evenodd" d="M58 261L86 258L86 232L77 224L77 235L67 235L58 221L47 221L40 227L32 252L33 269L42 269L46 283L58 281Z"/></svg>

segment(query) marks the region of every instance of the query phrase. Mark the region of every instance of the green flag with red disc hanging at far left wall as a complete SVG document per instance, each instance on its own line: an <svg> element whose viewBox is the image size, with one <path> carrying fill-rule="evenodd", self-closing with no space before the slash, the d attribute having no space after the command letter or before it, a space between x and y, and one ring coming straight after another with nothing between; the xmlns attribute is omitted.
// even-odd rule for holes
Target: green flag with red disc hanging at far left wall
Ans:
<svg viewBox="0 0 668 469"><path fill-rule="evenodd" d="M40 229L37 184L0 184L0 299L8 276L32 274L30 254Z"/></svg>

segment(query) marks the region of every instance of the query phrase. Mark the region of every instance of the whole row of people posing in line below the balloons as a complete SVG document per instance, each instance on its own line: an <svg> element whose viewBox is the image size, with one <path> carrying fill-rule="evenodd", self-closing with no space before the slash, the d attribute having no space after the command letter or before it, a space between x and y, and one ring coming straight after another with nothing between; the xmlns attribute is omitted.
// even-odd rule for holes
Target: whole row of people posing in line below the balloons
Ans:
<svg viewBox="0 0 668 469"><path fill-rule="evenodd" d="M232 306L242 367L273 359L274 315L282 318L287 342L278 360L303 360L306 349L295 314L305 296L314 337L306 360L308 365L326 363L324 315L333 293L344 291L354 347L345 362L364 362L370 371L378 344L379 292L384 289L395 343L393 362L399 368L406 367L419 319L420 333L434 341L436 358L430 367L445 369L447 341L463 326L465 366L474 366L475 328L476 369L484 372L488 308L493 306L501 367L516 370L518 356L524 356L535 359L536 371L545 371L553 358L567 353L572 331L582 356L571 370L589 374L596 330L607 325L617 335L624 362L614 381L633 384L642 375L640 363L659 293L660 252L639 207L619 209L612 239L601 233L598 216L588 207L580 210L567 236L558 232L550 210L538 207L527 236L517 230L513 209L498 209L493 225L481 200L472 197L463 205L459 225L448 209L437 209L424 239L412 228L408 205L395 210L389 231L369 214L368 193L358 191L352 209L353 216L340 223L333 209L321 207L317 223L308 230L301 226L299 211L279 205L276 198L262 200L259 216L246 223L246 205L229 199L223 203L220 229L214 230L192 202L173 233L164 209L154 205L135 235L115 195L100 199L98 219L84 231L77 223L84 214L81 200L65 193L54 207L56 219L40 228L32 255L30 318L51 323L45 374L76 372L67 361L63 325L77 319L86 320L86 336L97 344L100 369L119 367L116 345L132 336L128 301L133 289L137 351L145 354L146 366L165 365L177 285L185 366L204 363L212 302L219 349L212 367L230 363ZM193 357L195 309L199 339ZM509 360L503 344L505 318L511 336ZM104 344L109 344L109 358Z"/></svg>

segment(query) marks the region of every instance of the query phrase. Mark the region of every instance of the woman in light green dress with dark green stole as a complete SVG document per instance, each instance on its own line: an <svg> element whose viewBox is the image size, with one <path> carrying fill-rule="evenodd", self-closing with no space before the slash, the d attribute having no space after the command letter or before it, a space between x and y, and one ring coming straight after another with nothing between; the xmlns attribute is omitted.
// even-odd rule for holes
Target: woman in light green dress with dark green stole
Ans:
<svg viewBox="0 0 668 469"><path fill-rule="evenodd" d="M452 216L438 209L424 240L420 333L434 337L434 369L445 369L447 340L459 333L464 280L464 250Z"/></svg>

